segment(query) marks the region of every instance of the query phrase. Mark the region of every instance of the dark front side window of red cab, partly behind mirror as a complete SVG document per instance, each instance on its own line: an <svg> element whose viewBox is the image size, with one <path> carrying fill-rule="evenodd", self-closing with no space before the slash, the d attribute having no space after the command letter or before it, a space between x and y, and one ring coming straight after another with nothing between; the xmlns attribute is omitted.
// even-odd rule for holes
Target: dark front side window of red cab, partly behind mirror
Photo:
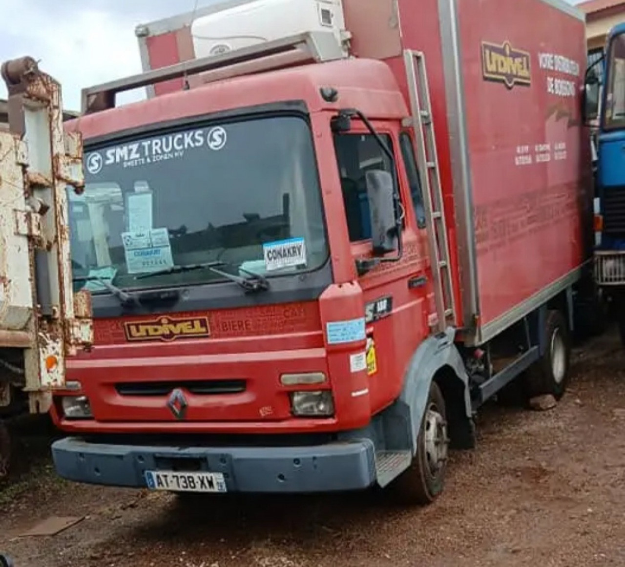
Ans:
<svg viewBox="0 0 625 567"><path fill-rule="evenodd" d="M380 137L392 153L391 137L388 134L380 134ZM371 217L366 173L371 169L383 169L395 178L393 164L371 134L335 134L334 148L341 177L349 241L368 240L371 238Z"/></svg>

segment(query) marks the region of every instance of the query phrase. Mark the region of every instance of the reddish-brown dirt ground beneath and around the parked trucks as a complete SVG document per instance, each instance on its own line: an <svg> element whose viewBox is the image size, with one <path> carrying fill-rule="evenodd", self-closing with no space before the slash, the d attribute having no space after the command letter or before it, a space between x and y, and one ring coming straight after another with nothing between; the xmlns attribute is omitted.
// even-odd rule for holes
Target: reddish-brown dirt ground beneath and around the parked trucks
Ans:
<svg viewBox="0 0 625 567"><path fill-rule="evenodd" d="M452 455L427 508L384 494L198 498L65 483L47 442L23 433L29 466L0 492L0 550L16 567L625 565L625 353L615 334L574 352L551 411L492 404L476 450ZM84 516L19 537L49 516Z"/></svg>

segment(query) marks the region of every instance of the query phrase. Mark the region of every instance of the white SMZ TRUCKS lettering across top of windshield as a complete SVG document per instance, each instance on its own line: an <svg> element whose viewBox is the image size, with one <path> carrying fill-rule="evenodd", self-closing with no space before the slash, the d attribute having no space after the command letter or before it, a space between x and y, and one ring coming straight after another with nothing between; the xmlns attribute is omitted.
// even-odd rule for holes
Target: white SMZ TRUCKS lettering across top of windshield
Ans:
<svg viewBox="0 0 625 567"><path fill-rule="evenodd" d="M227 133L222 126L199 128L94 151L86 155L85 165L89 174L97 176L109 167L136 168L181 159L189 151L219 151L226 142Z"/></svg>

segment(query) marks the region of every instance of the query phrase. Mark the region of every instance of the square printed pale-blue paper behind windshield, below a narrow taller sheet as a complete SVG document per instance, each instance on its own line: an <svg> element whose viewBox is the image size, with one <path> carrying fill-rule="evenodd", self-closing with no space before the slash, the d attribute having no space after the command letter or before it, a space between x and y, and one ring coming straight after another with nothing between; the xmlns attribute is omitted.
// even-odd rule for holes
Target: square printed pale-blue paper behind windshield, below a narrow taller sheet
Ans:
<svg viewBox="0 0 625 567"><path fill-rule="evenodd" d="M174 266L166 228L123 233L122 241L129 274L145 274Z"/></svg>

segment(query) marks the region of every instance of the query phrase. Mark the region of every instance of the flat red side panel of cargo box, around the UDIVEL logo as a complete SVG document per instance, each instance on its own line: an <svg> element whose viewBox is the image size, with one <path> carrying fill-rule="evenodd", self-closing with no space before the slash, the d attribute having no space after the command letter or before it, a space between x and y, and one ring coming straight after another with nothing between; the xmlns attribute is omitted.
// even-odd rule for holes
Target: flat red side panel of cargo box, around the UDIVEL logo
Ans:
<svg viewBox="0 0 625 567"><path fill-rule="evenodd" d="M565 276L583 259L581 210L591 164L581 128L584 23L539 0L459 3L466 118L476 218L482 324ZM497 18L492 18L497 14ZM531 86L481 77L482 41L530 54ZM581 76L539 67L539 53L579 64ZM573 81L576 96L547 93L547 77ZM554 159L566 143L567 158ZM551 161L516 166L517 146L549 144Z"/></svg>

